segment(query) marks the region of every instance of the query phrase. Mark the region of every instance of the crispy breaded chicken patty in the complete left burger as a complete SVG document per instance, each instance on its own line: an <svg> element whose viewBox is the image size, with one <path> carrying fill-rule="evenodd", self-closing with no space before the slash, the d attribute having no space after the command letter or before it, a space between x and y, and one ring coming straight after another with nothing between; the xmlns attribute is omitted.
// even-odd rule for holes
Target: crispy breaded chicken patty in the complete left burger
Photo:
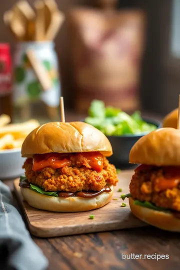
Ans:
<svg viewBox="0 0 180 270"><path fill-rule="evenodd" d="M45 167L40 171L33 171L32 159L27 158L23 165L25 176L30 183L44 188L45 191L99 191L107 183L115 185L118 181L114 165L109 164L105 157L100 172L89 168L83 155L79 155L78 158L72 156L70 159L70 166L58 169Z"/></svg>

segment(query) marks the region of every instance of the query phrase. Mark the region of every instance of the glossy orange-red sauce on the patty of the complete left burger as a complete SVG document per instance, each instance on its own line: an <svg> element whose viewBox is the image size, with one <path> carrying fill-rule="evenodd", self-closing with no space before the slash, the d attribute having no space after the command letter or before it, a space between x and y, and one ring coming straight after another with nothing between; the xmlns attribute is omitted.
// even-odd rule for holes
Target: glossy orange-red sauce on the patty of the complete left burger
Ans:
<svg viewBox="0 0 180 270"><path fill-rule="evenodd" d="M103 168L103 156L99 152L84 152L84 153L47 153L35 154L33 157L32 169L34 171L42 170L45 167L54 169L64 166L70 166L70 157L78 158L78 155L83 155L87 158L88 164L96 171L101 171Z"/></svg>

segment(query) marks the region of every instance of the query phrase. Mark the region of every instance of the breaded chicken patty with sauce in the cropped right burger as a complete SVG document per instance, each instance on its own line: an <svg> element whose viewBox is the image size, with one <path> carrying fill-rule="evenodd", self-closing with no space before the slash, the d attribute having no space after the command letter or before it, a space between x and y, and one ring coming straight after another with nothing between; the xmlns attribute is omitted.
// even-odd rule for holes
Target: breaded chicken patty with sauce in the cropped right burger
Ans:
<svg viewBox="0 0 180 270"><path fill-rule="evenodd" d="M180 175L169 174L167 169L153 166L135 171L129 184L132 198L180 211Z"/></svg>

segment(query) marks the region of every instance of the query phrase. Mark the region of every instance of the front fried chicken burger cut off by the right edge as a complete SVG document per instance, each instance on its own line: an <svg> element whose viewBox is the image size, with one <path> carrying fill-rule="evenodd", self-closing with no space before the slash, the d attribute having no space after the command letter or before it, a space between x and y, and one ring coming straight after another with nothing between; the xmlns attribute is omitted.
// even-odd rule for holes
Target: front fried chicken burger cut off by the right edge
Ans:
<svg viewBox="0 0 180 270"><path fill-rule="evenodd" d="M180 231L180 130L166 127L141 137L131 148L129 162L140 164L132 175L132 213L165 230Z"/></svg>

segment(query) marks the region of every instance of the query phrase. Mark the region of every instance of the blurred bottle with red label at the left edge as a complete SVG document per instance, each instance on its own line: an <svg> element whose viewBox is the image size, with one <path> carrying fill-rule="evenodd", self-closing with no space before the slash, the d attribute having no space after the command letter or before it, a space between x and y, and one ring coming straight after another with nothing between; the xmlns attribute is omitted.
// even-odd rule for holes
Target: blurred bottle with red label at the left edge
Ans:
<svg viewBox="0 0 180 270"><path fill-rule="evenodd" d="M0 114L12 117L12 73L11 56L8 43L0 43Z"/></svg>

